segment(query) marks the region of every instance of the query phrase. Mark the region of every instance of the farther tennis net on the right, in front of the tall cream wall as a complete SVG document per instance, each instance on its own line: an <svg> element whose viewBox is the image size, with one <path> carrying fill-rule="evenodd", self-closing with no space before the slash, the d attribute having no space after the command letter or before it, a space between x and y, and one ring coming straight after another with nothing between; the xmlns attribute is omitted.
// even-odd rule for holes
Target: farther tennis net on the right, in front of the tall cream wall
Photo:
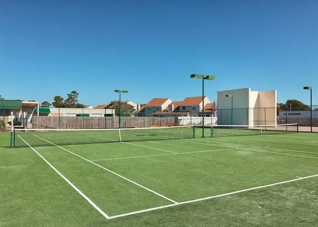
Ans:
<svg viewBox="0 0 318 227"><path fill-rule="evenodd" d="M212 125L211 137L252 136L298 133L298 124L275 125Z"/></svg>

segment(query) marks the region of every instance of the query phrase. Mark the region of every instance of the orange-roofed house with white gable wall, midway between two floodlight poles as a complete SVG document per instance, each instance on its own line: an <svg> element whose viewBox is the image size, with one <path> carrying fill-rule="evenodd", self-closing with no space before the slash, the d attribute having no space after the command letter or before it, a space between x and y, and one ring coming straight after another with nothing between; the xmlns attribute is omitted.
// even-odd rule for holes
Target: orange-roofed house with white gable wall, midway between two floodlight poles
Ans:
<svg viewBox="0 0 318 227"><path fill-rule="evenodd" d="M154 98L135 113L135 116L152 116L154 112L162 112L172 101L169 98Z"/></svg>

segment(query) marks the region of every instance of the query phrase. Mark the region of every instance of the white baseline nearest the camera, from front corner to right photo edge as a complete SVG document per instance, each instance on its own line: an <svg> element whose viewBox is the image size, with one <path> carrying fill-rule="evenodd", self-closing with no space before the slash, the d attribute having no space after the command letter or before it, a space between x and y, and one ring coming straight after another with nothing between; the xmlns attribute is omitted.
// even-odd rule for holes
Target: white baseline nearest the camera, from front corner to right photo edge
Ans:
<svg viewBox="0 0 318 227"><path fill-rule="evenodd" d="M159 206L159 207L153 207L153 208L149 208L149 209L145 209L145 210L139 210L139 211L134 211L134 212L129 212L129 213L125 213L125 214L114 215L114 216L111 216L111 217L109 217L109 218L110 218L110 219L120 218L120 217L124 217L124 216L129 216L129 215L134 215L134 214L149 212L149 211L153 211L153 210L159 210L159 209L163 209L163 208L167 208L167 207L172 207L172 206L177 206L177 205L182 205L182 204L187 204L187 203L193 203L193 202L199 202L199 201L208 200L208 199L213 199L213 198L217 198L217 197L222 197L222 196L237 194L237 193L241 193L241 192L245 192L245 191L251 191L251 190L255 190L255 189L264 189L264 188L268 188L268 187L272 187L272 186L276 186L276 185L282 185L282 184L286 184L286 183L290 183L290 182L295 182L295 181L300 181L300 180L304 180L304 179L308 179L308 178L313 178L313 177L318 177L318 174L316 174L316 175L311 175L311 176L307 176L307 177L301 177L301 178L297 178L297 179L293 179L293 180L288 180L288 181L282 181L282 182L278 182L278 183L274 183L274 184L270 184L270 185L258 186L258 187L249 188L249 189L242 189L242 190L232 191L232 192L228 192L228 193L224 193L224 194L213 195L213 196L209 196L209 197L205 197L205 198L199 198L199 199L194 199L194 200L179 202L179 203L175 203L175 204L170 204L170 205L165 205L165 206Z"/></svg>

